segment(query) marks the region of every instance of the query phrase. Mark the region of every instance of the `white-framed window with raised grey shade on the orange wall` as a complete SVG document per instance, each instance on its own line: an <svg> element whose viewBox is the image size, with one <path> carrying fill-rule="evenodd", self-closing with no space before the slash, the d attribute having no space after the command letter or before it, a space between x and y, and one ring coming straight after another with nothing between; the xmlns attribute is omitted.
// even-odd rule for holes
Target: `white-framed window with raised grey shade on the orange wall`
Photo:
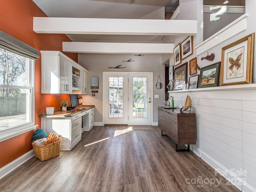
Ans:
<svg viewBox="0 0 256 192"><path fill-rule="evenodd" d="M14 47L14 44L18 46ZM0 142L36 128L35 58L26 48L34 51L34 48L0 31Z"/></svg>

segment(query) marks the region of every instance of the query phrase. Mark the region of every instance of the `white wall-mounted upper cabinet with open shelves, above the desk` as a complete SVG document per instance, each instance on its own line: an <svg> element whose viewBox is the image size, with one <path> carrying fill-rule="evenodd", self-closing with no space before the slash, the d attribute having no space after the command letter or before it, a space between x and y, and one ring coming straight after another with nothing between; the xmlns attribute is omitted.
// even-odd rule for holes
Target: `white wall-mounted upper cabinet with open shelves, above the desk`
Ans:
<svg viewBox="0 0 256 192"><path fill-rule="evenodd" d="M85 81L82 72L88 72L86 69L60 51L40 52L41 93L72 94L74 91L74 94L87 94L87 75Z"/></svg>

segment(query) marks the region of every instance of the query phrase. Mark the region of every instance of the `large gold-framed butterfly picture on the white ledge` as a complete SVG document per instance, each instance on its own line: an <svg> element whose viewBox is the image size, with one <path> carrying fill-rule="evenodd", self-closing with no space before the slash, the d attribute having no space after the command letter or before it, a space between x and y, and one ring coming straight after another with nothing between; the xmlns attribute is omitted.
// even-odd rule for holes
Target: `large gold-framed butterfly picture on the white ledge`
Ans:
<svg viewBox="0 0 256 192"><path fill-rule="evenodd" d="M220 85L252 83L254 33L222 48Z"/></svg>

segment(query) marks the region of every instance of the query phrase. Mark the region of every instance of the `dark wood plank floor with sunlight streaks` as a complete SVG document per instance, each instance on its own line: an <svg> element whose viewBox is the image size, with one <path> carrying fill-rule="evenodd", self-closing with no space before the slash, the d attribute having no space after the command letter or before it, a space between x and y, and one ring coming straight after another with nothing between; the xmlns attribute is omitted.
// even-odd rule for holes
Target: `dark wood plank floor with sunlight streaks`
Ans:
<svg viewBox="0 0 256 192"><path fill-rule="evenodd" d="M95 126L60 156L32 158L0 180L3 192L238 192L192 151L154 130ZM200 178L202 183L200 183ZM210 183L211 181L212 183ZM220 182L220 183L219 183Z"/></svg>

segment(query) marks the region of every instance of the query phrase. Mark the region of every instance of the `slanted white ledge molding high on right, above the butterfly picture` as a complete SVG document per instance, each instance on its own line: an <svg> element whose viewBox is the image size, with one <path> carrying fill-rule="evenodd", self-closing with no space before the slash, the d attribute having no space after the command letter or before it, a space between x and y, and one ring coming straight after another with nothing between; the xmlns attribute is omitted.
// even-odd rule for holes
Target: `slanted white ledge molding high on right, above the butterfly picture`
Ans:
<svg viewBox="0 0 256 192"><path fill-rule="evenodd" d="M196 46L196 56L206 52L207 50L213 48L214 46L220 44L221 42L235 36L236 34L246 30L246 18L248 13L243 14L232 23L224 27L222 30L218 31L216 34L212 35L204 42Z"/></svg>

